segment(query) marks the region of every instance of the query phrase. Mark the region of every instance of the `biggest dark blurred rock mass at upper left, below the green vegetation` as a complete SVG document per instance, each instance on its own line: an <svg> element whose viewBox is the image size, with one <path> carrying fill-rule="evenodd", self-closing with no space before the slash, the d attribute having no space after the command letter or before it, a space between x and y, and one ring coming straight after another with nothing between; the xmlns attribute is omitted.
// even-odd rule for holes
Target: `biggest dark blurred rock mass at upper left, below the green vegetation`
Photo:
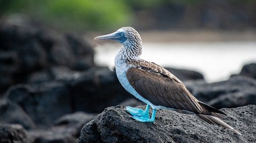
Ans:
<svg viewBox="0 0 256 143"><path fill-rule="evenodd" d="M20 20L0 23L0 92L24 83L33 72L52 66L84 71L94 66L94 51L85 40ZM43 76L44 77L44 76Z"/></svg>

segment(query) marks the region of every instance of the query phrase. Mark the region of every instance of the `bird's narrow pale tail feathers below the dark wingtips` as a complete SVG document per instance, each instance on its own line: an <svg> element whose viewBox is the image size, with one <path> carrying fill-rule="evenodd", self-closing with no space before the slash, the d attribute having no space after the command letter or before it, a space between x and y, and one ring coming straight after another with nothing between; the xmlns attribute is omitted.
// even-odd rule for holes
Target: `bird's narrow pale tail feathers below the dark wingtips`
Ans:
<svg viewBox="0 0 256 143"><path fill-rule="evenodd" d="M232 128L230 125L228 125L227 123L225 123L224 121L222 121L220 118L216 116L203 115L203 114L197 114L197 115L200 116L200 118L202 118L209 124L221 125L222 127L232 129L234 132L238 133L239 135L242 135L240 132L236 131L236 129Z"/></svg>

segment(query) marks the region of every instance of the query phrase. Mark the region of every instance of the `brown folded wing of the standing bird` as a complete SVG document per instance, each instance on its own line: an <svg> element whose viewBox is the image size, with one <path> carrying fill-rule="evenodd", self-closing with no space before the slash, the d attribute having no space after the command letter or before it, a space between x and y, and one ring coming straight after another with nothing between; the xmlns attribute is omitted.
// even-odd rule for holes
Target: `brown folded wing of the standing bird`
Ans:
<svg viewBox="0 0 256 143"><path fill-rule="evenodd" d="M197 99L173 75L170 77L140 68L129 68L126 76L131 86L155 106L202 112Z"/></svg>

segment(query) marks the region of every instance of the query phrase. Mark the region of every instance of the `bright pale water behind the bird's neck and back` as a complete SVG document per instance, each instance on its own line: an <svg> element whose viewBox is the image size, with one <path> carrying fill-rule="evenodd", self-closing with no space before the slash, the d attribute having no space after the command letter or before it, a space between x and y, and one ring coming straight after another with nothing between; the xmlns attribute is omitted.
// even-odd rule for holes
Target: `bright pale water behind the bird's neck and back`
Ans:
<svg viewBox="0 0 256 143"><path fill-rule="evenodd" d="M114 67L121 44L106 43L95 47L94 61ZM144 43L142 57L160 66L195 70L208 83L229 79L240 73L244 64L256 62L256 41L251 42L178 42Z"/></svg>

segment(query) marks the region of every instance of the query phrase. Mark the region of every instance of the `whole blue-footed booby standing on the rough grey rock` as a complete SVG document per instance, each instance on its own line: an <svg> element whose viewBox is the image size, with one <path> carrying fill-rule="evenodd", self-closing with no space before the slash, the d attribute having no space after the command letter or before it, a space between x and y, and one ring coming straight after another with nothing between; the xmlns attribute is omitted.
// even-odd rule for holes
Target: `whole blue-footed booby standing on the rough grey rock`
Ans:
<svg viewBox="0 0 256 143"><path fill-rule="evenodd" d="M139 122L154 122L156 110L169 109L196 114L210 124L222 125L241 135L223 122L218 114L224 112L198 101L185 85L171 72L158 64L140 58L142 39L132 27L123 27L116 32L98 36L95 40L114 40L122 44L115 56L115 71L123 88L147 104L146 109L126 107L132 118ZM152 107L150 118L149 109Z"/></svg>

